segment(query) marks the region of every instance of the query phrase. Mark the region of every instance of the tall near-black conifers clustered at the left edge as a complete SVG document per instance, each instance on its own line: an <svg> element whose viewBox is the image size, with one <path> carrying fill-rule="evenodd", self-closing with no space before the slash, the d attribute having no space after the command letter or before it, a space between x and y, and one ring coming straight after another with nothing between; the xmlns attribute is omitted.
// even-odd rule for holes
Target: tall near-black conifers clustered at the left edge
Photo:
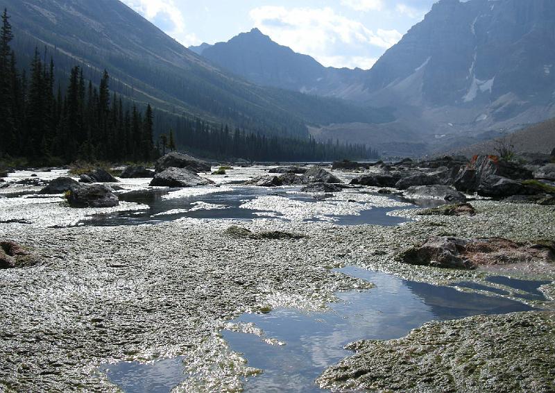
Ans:
<svg viewBox="0 0 555 393"><path fill-rule="evenodd" d="M110 93L108 72L98 87L85 81L83 69L71 69L67 89L55 92L54 63L35 49L28 75L19 72L7 11L0 31L0 153L31 162L74 160L151 161L153 111L124 106Z"/></svg>

